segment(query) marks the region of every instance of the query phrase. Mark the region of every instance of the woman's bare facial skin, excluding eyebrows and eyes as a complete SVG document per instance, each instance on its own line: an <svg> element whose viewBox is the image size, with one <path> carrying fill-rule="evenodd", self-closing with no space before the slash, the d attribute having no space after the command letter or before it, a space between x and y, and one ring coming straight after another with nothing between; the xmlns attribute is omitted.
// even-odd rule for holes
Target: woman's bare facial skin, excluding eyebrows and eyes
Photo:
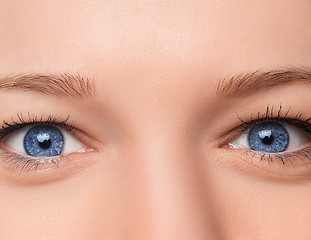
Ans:
<svg viewBox="0 0 311 240"><path fill-rule="evenodd" d="M311 239L310 164L251 162L228 147L241 134L236 113L250 121L282 104L308 118L310 89L215 91L226 76L310 67L310 8L2 0L1 75L79 72L96 95L1 91L0 122L18 112L70 115L86 152L37 172L1 165L0 239Z"/></svg>

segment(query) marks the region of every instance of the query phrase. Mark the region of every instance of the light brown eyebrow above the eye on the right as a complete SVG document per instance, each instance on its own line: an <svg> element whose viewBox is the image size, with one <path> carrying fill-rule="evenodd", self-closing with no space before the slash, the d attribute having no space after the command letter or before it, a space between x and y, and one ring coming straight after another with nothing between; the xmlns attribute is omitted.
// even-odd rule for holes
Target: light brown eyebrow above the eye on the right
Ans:
<svg viewBox="0 0 311 240"><path fill-rule="evenodd" d="M311 69L290 67L270 71L257 70L252 73L226 77L219 81L216 95L221 97L251 95L263 89L291 82L311 83Z"/></svg>

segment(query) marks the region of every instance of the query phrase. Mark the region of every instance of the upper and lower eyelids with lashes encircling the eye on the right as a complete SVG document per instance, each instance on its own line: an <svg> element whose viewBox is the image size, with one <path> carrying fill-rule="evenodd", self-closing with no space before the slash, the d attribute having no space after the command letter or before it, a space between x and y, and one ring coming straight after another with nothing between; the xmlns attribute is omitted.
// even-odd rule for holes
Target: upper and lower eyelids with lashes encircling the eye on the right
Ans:
<svg viewBox="0 0 311 240"><path fill-rule="evenodd" d="M263 114L259 112L258 114L248 113L248 119L246 114L243 114L242 119L240 114L236 113L241 124L224 134L220 139L218 146L220 151L224 151L223 158L231 156L226 158L227 163L237 168L247 166L245 171L253 169L256 174L265 172L282 177L295 176L303 179L310 177L311 180L311 118L304 117L301 111L293 114L291 107L284 108L282 105L279 108L268 106ZM252 126L266 121L276 121L295 126L306 134L309 141L300 148L281 153L264 153L251 149L230 147L231 141L241 134L248 133Z"/></svg>

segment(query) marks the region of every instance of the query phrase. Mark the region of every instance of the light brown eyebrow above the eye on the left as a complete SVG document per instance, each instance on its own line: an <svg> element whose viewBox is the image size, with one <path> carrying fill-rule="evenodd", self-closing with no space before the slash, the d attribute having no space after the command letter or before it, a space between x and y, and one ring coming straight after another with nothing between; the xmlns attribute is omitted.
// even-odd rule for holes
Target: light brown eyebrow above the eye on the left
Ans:
<svg viewBox="0 0 311 240"><path fill-rule="evenodd" d="M0 91L30 91L56 97L93 98L93 81L79 73L16 74L0 76Z"/></svg>

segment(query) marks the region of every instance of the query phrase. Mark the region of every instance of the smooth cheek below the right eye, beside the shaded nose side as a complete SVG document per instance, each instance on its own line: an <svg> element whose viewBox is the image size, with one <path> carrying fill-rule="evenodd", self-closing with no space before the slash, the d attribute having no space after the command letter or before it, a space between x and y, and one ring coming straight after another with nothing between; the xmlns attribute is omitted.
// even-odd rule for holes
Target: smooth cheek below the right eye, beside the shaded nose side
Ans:
<svg viewBox="0 0 311 240"><path fill-rule="evenodd" d="M311 220L310 183L272 183L224 169L212 175L215 217L226 227L225 239L311 237L302 227Z"/></svg>

